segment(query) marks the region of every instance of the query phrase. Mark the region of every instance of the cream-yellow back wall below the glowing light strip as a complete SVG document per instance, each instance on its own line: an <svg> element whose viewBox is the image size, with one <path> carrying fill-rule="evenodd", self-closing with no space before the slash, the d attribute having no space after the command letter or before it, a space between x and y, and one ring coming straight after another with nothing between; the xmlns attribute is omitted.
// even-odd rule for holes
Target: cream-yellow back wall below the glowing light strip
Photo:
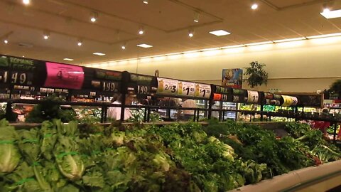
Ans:
<svg viewBox="0 0 341 192"><path fill-rule="evenodd" d="M341 78L341 37L275 43L244 48L210 50L156 58L92 65L110 70L220 84L222 69L244 68L251 61L266 64L267 86L283 92L316 92ZM244 86L243 88L249 88Z"/></svg>

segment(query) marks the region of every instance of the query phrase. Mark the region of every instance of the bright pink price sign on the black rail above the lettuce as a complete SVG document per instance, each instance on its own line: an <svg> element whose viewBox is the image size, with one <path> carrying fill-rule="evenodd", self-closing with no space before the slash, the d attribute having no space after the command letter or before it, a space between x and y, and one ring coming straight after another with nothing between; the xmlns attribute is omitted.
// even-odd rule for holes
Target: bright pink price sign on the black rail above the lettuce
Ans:
<svg viewBox="0 0 341 192"><path fill-rule="evenodd" d="M80 90L84 81L84 71L80 66L46 62L47 77L44 87Z"/></svg>

